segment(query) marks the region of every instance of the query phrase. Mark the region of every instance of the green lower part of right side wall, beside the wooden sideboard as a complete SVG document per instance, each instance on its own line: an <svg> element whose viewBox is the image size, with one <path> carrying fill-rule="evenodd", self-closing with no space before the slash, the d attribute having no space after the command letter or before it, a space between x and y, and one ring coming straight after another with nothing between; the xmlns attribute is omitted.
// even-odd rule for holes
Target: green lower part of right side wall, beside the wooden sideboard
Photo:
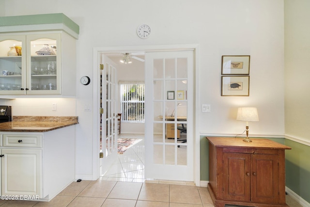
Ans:
<svg viewBox="0 0 310 207"><path fill-rule="evenodd" d="M285 139L286 186L310 203L310 146Z"/></svg>

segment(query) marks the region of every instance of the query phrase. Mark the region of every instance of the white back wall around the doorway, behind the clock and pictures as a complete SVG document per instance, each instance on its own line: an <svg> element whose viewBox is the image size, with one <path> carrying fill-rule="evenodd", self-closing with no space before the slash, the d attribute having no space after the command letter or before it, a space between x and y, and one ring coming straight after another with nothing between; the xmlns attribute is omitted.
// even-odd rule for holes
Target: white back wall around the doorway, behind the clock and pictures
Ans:
<svg viewBox="0 0 310 207"><path fill-rule="evenodd" d="M240 106L258 108L260 122L250 134L284 133L283 0L0 0L0 16L64 13L80 26L77 41L77 80L93 79L93 48L131 45L199 44L198 114L204 134L238 134L245 124L235 121ZM151 26L140 39L137 27ZM223 97L221 56L250 55L250 96ZM93 86L77 81L76 114L78 175L92 175ZM42 114L45 115L45 114Z"/></svg>

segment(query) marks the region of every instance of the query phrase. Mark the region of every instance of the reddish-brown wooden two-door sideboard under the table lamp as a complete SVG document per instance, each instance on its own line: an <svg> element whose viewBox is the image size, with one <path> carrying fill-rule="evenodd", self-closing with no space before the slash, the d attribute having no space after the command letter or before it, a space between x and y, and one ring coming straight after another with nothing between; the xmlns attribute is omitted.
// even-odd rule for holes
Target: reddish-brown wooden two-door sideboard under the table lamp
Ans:
<svg viewBox="0 0 310 207"><path fill-rule="evenodd" d="M215 207L288 207L285 203L285 150L268 139L207 137L208 190Z"/></svg>

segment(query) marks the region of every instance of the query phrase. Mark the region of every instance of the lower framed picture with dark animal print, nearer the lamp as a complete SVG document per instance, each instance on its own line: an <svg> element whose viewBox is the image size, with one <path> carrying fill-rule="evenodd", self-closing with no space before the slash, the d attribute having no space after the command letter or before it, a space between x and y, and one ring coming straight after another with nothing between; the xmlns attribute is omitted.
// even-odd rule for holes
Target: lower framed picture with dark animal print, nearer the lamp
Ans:
<svg viewBox="0 0 310 207"><path fill-rule="evenodd" d="M221 96L249 96L250 76L222 76Z"/></svg>

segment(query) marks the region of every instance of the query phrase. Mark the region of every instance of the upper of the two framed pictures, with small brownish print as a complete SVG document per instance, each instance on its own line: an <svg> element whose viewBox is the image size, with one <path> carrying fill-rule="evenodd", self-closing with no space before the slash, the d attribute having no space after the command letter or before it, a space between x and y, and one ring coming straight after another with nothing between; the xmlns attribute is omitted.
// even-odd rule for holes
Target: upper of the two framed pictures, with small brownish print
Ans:
<svg viewBox="0 0 310 207"><path fill-rule="evenodd" d="M249 75L250 56L222 56L222 75Z"/></svg>

